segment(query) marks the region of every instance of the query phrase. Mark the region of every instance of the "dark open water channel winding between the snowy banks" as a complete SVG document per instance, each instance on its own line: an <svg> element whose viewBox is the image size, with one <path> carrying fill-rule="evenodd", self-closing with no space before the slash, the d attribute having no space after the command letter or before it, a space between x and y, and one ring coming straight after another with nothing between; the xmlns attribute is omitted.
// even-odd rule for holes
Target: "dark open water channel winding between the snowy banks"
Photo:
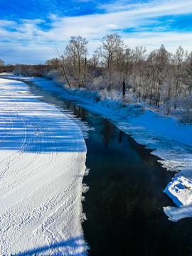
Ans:
<svg viewBox="0 0 192 256"><path fill-rule="evenodd" d="M90 174L83 180L90 187L82 225L89 255L192 255L192 218L173 223L163 211L173 206L162 191L174 174L107 119L30 85L41 100L95 127L85 140Z"/></svg>

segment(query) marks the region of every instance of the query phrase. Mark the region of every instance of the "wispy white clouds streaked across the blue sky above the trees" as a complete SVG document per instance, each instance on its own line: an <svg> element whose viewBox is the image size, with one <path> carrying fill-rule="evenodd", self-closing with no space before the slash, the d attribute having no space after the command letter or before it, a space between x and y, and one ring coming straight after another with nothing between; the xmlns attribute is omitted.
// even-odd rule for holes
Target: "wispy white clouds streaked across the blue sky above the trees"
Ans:
<svg viewBox="0 0 192 256"><path fill-rule="evenodd" d="M117 6L119 6L117 8ZM122 11L124 6L124 11ZM116 10L114 8L116 7ZM0 21L0 58L11 62L8 55L13 56L12 62L21 63L22 58L31 59L36 63L43 63L48 58L54 56L53 47L58 46L60 52L65 48L70 36L83 36L90 41L89 49L91 53L99 46L100 40L107 33L118 31L129 46L142 45L149 50L158 48L164 43L168 50L176 50L178 46L191 51L192 33L164 32L165 28L171 26L171 20L162 24L157 17L176 16L178 14L191 14L192 1L151 1L144 4L124 5L124 1L119 1L119 5L105 6L106 14L93 14L75 17L50 16L51 28L43 30L43 25L47 21L42 19L15 21ZM114 10L110 13L109 10ZM120 10L120 11L119 11ZM151 26L156 28L151 32ZM124 33L124 29L134 28L134 33ZM9 49L6 50L6 49ZM6 51L5 51L6 50ZM14 51L14 54L13 54ZM32 53L36 53L36 59ZM6 55L5 55L6 53ZM18 55L16 54L18 53ZM26 56L26 57L25 57ZM14 58L17 60L14 61Z"/></svg>

